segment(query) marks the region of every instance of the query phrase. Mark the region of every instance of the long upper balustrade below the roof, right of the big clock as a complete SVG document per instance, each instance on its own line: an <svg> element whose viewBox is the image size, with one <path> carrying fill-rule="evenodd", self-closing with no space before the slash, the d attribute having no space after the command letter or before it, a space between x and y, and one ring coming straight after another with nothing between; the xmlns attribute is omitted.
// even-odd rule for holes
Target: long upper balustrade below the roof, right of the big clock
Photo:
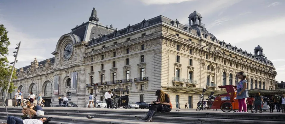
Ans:
<svg viewBox="0 0 285 124"><path fill-rule="evenodd" d="M118 44L115 44L115 45L110 45L110 46L107 46L107 47L105 47L105 48L101 48L101 49L98 49L98 50L94 50L94 51L91 51L91 52L87 52L87 53L85 53L85 55L88 55L88 54L91 54L91 53L98 53L98 52L100 52L100 51L108 50L108 49L111 49L111 48L114 48L114 47L117 47L117 46L121 46L121 45L127 45L127 44L130 44L130 43L135 42L135 41L137 41L137 40L144 39L144 38L147 38L147 37L151 37L151 36L153 36L153 35L154 35L154 33L149 34L149 35L145 35L145 36L142 36L142 37L137 37L137 38L134 38L134 39L129 40L129 41L127 40L127 41L122 42L122 43L118 43ZM98 43L98 42L97 42L97 43Z"/></svg>

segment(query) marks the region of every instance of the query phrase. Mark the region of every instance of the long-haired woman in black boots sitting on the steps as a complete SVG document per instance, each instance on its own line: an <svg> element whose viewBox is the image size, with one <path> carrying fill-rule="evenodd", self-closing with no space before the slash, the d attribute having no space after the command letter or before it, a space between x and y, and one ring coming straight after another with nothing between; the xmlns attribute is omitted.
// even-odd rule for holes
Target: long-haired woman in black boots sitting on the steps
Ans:
<svg viewBox="0 0 285 124"><path fill-rule="evenodd" d="M151 122L156 112L170 112L172 109L172 104L168 94L159 89L156 90L155 95L157 96L156 101L153 101L153 104L151 104L146 117L141 118L142 120L145 120L145 122Z"/></svg>

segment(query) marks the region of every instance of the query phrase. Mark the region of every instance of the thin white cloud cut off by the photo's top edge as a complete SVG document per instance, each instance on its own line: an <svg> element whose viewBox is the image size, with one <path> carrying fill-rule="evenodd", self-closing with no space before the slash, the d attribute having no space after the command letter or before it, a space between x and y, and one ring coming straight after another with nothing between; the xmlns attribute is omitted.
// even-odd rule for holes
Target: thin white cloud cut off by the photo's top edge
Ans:
<svg viewBox="0 0 285 124"><path fill-rule="evenodd" d="M153 4L179 4L185 1L193 1L193 0L140 0L144 4L153 5Z"/></svg>

